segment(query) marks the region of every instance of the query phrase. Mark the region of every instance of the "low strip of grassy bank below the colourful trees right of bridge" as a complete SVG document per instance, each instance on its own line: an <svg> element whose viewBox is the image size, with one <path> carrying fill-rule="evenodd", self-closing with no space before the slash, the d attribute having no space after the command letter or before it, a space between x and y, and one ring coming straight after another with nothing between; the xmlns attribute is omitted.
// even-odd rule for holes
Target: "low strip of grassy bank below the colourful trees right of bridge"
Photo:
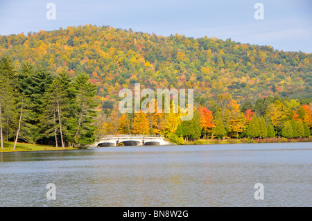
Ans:
<svg viewBox="0 0 312 221"><path fill-rule="evenodd" d="M184 144L229 144L229 143L295 143L295 142L312 142L312 137L303 137L297 139L279 138L266 138L266 139L198 139L195 141L187 141Z"/></svg>

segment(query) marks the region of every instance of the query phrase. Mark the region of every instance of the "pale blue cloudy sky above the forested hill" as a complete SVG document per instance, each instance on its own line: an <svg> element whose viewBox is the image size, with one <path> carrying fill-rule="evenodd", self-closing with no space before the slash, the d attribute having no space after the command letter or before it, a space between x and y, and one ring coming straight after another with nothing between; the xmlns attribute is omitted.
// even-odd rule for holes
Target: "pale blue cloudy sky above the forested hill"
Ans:
<svg viewBox="0 0 312 221"><path fill-rule="evenodd" d="M56 19L46 19L46 4L56 6ZM264 19L254 19L255 3ZM284 51L312 53L310 0L0 0L0 35L96 24L156 35L231 38L271 45Z"/></svg>

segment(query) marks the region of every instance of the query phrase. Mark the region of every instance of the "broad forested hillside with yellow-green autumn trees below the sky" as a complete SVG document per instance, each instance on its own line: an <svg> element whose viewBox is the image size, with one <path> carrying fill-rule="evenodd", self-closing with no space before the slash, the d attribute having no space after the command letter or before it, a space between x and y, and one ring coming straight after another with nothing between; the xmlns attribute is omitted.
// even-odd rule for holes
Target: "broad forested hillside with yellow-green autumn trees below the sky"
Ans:
<svg viewBox="0 0 312 221"><path fill-rule="evenodd" d="M241 102L265 96L311 98L311 54L231 39L162 37L86 25L0 36L0 48L17 68L26 60L53 73L87 73L104 108L112 108L120 89L135 82L152 89L193 88L196 97L205 98L229 92Z"/></svg>

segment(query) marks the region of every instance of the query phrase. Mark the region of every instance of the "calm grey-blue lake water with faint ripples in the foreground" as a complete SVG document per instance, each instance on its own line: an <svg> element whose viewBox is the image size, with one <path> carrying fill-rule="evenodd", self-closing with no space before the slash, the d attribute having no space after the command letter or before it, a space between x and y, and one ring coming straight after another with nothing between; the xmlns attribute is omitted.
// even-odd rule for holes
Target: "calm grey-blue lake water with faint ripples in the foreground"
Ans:
<svg viewBox="0 0 312 221"><path fill-rule="evenodd" d="M311 143L0 153L0 206L312 206L311 187Z"/></svg>

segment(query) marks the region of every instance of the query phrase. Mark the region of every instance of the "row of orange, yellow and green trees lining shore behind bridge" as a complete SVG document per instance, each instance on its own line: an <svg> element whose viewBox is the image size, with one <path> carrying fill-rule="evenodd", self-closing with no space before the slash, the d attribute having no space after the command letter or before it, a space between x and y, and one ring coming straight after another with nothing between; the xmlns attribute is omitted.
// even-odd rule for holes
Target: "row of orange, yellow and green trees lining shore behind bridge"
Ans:
<svg viewBox="0 0 312 221"><path fill-rule="evenodd" d="M220 94L216 100L196 103L190 121L181 121L181 113L156 113L156 106L155 100L155 114L101 112L96 135L164 134L175 143L184 143L200 138L301 138L311 134L311 103L295 99L268 96L240 105L230 94Z"/></svg>

